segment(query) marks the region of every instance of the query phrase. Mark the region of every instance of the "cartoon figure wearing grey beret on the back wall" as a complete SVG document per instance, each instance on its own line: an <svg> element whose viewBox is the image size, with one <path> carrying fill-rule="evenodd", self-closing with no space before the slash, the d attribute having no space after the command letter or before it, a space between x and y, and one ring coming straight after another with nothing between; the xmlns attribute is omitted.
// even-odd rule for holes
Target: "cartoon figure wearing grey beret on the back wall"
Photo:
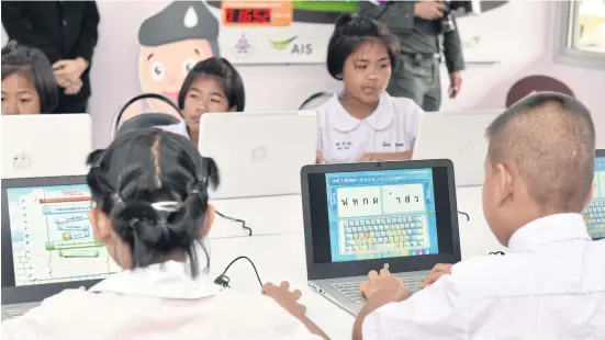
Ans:
<svg viewBox="0 0 605 340"><path fill-rule="evenodd" d="M203 1L175 1L141 24L138 43L143 92L161 93L177 102L189 70L198 61L220 55L219 20ZM131 105L123 118L142 112L179 117L168 104L149 100Z"/></svg>

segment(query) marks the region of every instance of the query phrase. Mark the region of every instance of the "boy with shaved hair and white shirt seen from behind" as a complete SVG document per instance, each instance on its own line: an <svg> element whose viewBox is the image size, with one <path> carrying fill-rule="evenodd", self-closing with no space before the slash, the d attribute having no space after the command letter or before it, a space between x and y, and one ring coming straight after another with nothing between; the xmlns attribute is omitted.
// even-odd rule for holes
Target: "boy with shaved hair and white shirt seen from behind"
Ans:
<svg viewBox="0 0 605 340"><path fill-rule="evenodd" d="M354 339L605 339L605 240L591 240L580 214L593 191L589 110L534 94L488 138L483 211L509 252L438 264L412 296L389 271L370 272Z"/></svg>

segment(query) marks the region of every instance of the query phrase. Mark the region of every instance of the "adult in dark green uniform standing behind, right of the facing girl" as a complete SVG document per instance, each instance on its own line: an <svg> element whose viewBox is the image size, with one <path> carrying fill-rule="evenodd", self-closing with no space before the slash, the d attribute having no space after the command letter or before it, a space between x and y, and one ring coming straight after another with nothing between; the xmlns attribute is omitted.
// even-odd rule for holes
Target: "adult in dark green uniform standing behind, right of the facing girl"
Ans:
<svg viewBox="0 0 605 340"><path fill-rule="evenodd" d="M393 97L413 99L424 111L438 111L441 104L441 54L449 72L450 98L456 98L462 86L460 71L464 69L464 58L460 35L453 15L445 18L446 9L444 1L359 3L360 15L384 23L401 42L400 63L386 91Z"/></svg>

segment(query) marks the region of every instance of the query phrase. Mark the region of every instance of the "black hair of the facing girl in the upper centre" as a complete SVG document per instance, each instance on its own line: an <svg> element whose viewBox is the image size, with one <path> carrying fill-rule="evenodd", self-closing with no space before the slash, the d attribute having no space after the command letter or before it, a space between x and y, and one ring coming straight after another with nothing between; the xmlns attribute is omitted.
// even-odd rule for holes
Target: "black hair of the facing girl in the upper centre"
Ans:
<svg viewBox="0 0 605 340"><path fill-rule="evenodd" d="M336 20L336 27L327 45L327 70L334 79L340 80L348 56L369 39L380 41L386 47L391 66L395 67L400 56L400 43L384 25L376 20L345 13Z"/></svg>

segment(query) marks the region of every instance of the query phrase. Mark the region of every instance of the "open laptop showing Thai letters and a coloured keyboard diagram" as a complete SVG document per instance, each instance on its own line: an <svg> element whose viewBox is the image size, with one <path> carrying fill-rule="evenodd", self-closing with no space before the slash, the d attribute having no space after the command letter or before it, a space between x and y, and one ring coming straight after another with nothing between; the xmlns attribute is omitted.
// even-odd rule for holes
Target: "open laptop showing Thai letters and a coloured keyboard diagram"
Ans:
<svg viewBox="0 0 605 340"><path fill-rule="evenodd" d="M352 315L371 270L415 292L435 264L461 259L448 159L307 166L301 181L309 285Z"/></svg>

